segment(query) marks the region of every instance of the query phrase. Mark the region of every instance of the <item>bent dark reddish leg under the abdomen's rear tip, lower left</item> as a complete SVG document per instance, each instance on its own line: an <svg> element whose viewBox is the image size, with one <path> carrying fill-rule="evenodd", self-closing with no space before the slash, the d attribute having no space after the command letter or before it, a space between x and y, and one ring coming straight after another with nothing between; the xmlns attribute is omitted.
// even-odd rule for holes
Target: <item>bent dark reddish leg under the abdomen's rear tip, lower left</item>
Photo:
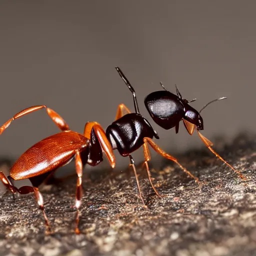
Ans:
<svg viewBox="0 0 256 256"><path fill-rule="evenodd" d="M43 198L42 198L42 194L39 192L39 189L37 187L33 187L33 186L21 186L20 188L17 188L15 186L13 186L13 184L11 183L11 181L8 177L6 177L3 174L3 172L0 171L0 180L2 181L2 183L4 185L7 186L7 188L9 188L12 191L12 193L18 192L20 194L27 194L30 192L34 192L35 200L43 213L45 225L46 225L47 230L49 231L50 230L49 221L48 221L48 218L44 211Z"/></svg>

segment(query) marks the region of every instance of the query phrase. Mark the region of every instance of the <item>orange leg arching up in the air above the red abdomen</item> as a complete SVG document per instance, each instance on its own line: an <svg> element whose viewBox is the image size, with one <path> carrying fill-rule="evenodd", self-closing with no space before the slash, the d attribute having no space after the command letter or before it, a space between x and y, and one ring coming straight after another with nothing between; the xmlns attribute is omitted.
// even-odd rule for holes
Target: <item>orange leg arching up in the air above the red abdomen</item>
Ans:
<svg viewBox="0 0 256 256"><path fill-rule="evenodd" d="M67 123L64 121L64 119L56 113L54 110L51 108L47 107L46 105L38 105L38 106L31 106L28 108L25 108L21 110L20 112L16 113L13 117L11 117L8 121L6 121L1 127L0 127L0 134L10 125L10 123L28 113L34 112L36 110L39 110L41 108L45 108L47 111L47 114L49 117L52 119L52 121L61 129L61 130L69 130L69 127Z"/></svg>

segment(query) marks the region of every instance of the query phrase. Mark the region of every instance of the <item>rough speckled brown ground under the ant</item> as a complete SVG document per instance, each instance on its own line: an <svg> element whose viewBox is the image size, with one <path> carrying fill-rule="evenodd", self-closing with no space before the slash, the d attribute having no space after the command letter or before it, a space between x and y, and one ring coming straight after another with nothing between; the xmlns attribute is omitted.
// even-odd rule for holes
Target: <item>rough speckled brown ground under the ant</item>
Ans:
<svg viewBox="0 0 256 256"><path fill-rule="evenodd" d="M152 169L159 198L140 171L147 209L131 171L92 172L83 183L80 235L73 233L70 207L75 177L41 188L51 235L44 234L32 194L13 200L5 193L0 198L0 255L256 255L256 136L240 134L230 145L215 140L214 148L247 180L202 147L178 159L206 184L198 186L165 161L161 170Z"/></svg>

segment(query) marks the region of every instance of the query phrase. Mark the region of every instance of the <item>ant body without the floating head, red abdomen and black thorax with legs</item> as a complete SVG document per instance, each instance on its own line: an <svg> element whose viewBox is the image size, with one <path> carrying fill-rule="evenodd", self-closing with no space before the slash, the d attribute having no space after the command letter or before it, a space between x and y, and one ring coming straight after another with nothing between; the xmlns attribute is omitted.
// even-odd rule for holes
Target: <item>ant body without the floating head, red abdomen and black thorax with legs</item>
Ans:
<svg viewBox="0 0 256 256"><path fill-rule="evenodd" d="M13 120L28 113L45 108L48 116L61 130L59 133L40 140L21 154L21 156L10 168L8 176L0 171L0 180L12 193L34 193L35 200L43 213L47 230L50 230L49 221L44 211L43 197L39 192L38 186L53 175L57 168L68 164L73 158L75 160L75 169L77 175L75 193L76 234L80 233L78 226L79 208L82 199L82 170L85 164L89 164L91 166L99 164L103 160L103 152L106 154L112 168L115 167L115 156L113 149L117 149L122 156L129 156L130 165L132 166L135 174L139 197L143 203L143 206L145 206L145 203L141 196L135 164L132 156L130 155L131 152L137 150L140 146L143 146L145 158L144 164L146 166L150 184L158 196L159 194L151 181L148 167L148 161L150 160L148 145L150 145L163 157L176 162L184 172L199 182L196 177L194 177L177 161L177 159L164 152L152 141L153 137L157 139L159 138L156 131L139 113L136 94L129 81L119 67L116 67L116 70L133 95L135 113L131 113L131 111L124 104L119 104L117 107L115 121L107 127L105 132L100 124L94 121L86 122L83 134L70 130L64 119L46 105L37 105L25 108L16 113L0 127L1 134ZM21 186L17 188L13 185L13 180L25 178L30 180L32 186Z"/></svg>

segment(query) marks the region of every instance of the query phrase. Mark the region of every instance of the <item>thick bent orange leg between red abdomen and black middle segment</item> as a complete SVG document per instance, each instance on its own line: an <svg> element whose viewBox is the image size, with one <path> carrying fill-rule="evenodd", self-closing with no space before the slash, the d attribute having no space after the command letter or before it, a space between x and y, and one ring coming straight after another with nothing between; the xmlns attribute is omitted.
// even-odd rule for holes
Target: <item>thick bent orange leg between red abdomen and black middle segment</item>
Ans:
<svg viewBox="0 0 256 256"><path fill-rule="evenodd" d="M105 134L103 128L97 122L86 122L86 124L84 126L83 135L88 139L90 139L91 129L94 130L94 133L95 133L104 153L106 154L106 157L107 157L111 167L114 168L115 167L115 157L114 157L113 149L112 149L110 142L108 141L108 139L106 137L106 134Z"/></svg>

